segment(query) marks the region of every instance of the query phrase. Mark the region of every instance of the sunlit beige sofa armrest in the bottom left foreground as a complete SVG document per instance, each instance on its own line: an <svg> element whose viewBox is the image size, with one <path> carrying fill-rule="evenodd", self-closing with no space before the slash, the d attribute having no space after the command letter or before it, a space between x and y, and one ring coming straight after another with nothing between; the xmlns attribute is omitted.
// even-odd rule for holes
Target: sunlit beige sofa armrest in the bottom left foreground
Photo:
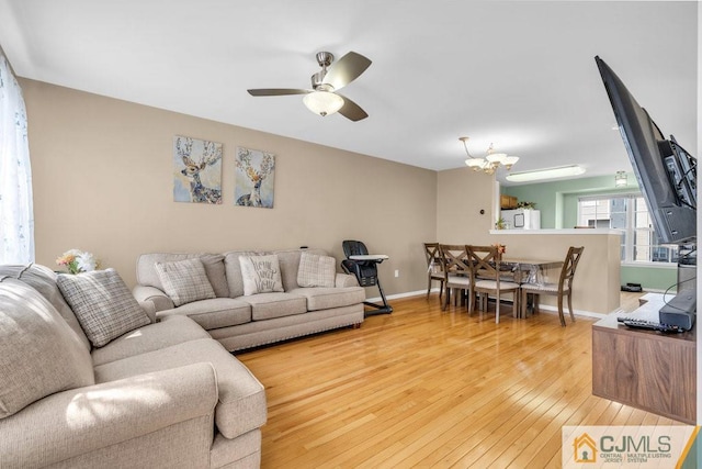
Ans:
<svg viewBox="0 0 702 469"><path fill-rule="evenodd" d="M58 392L0 420L0 467L50 466L203 416L212 439L217 399L205 362Z"/></svg>

